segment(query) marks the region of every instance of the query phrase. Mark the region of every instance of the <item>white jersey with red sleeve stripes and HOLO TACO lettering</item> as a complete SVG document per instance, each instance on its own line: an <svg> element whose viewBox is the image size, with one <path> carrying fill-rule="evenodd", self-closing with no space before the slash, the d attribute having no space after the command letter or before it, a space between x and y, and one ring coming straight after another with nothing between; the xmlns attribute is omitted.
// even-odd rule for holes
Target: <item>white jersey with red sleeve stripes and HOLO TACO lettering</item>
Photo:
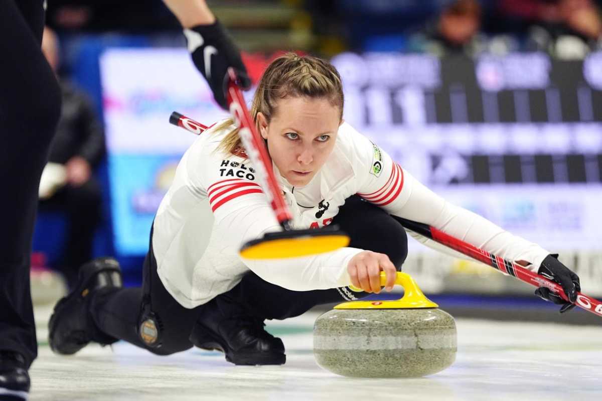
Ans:
<svg viewBox="0 0 602 401"><path fill-rule="evenodd" d="M217 150L232 128L210 128L194 141L157 211L152 245L167 291L182 306L194 308L230 290L249 270L297 291L351 284L347 264L362 249L344 247L280 260L241 258L238 250L244 243L280 231L280 226L244 154ZM535 271L550 253L446 202L348 123L340 126L332 154L305 187L292 187L276 166L274 170L297 229L328 225L345 199L359 194L395 216L434 226L502 258L528 261ZM465 258L410 234L427 246Z"/></svg>

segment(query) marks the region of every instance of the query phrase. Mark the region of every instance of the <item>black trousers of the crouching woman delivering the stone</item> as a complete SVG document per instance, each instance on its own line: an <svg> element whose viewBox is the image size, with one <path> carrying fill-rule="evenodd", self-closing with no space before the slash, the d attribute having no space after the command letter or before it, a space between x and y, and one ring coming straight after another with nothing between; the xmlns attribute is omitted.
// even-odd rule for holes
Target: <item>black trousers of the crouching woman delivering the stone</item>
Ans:
<svg viewBox="0 0 602 401"><path fill-rule="evenodd" d="M382 209L349 197L332 222L351 237L349 246L385 253L398 269L408 254L408 237L402 225ZM152 232L151 232L152 238ZM352 293L348 288L329 290L291 291L271 284L253 272L227 293L220 294L205 305L194 309L181 306L161 284L157 261L152 252L144 261L143 288L122 288L95 294L91 314L98 328L111 337L128 341L158 355L169 355L189 349L188 340L198 314L203 308L217 307L219 298L245 305L250 316L262 319L287 319L299 316L315 305L340 302L367 293ZM138 337L138 324L145 308L150 308L161 326L161 347L147 347Z"/></svg>

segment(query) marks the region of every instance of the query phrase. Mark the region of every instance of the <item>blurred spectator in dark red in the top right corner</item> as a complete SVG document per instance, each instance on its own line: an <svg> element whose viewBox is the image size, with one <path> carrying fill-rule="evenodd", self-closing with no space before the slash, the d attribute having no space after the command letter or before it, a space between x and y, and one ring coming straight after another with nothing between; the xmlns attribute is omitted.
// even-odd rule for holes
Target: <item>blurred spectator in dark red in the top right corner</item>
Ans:
<svg viewBox="0 0 602 401"><path fill-rule="evenodd" d="M497 11L527 34L527 50L571 57L582 55L585 45L597 47L602 37L600 13L591 0L498 0Z"/></svg>

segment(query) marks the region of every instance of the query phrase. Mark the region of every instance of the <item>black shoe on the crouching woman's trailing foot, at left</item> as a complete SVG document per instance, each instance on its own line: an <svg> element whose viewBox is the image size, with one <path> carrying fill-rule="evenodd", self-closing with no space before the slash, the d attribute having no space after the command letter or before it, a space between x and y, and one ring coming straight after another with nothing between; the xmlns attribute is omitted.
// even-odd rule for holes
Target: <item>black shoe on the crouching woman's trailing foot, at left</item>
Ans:
<svg viewBox="0 0 602 401"><path fill-rule="evenodd" d="M112 344L115 338L100 332L88 312L96 291L121 288L121 269L113 258L97 258L79 268L78 282L58 301L48 323L49 343L55 353L71 355L90 341Z"/></svg>

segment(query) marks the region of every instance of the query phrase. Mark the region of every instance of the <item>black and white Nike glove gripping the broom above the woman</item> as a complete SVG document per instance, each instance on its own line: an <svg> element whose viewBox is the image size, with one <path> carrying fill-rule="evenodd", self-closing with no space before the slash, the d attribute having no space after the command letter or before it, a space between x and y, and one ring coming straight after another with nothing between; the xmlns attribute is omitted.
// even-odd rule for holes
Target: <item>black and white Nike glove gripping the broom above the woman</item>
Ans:
<svg viewBox="0 0 602 401"><path fill-rule="evenodd" d="M197 25L186 29L184 36L194 66L209 83L216 102L228 110L228 67L234 68L238 85L242 89L249 89L251 86L251 80L240 58L240 51L218 20L211 25Z"/></svg>

